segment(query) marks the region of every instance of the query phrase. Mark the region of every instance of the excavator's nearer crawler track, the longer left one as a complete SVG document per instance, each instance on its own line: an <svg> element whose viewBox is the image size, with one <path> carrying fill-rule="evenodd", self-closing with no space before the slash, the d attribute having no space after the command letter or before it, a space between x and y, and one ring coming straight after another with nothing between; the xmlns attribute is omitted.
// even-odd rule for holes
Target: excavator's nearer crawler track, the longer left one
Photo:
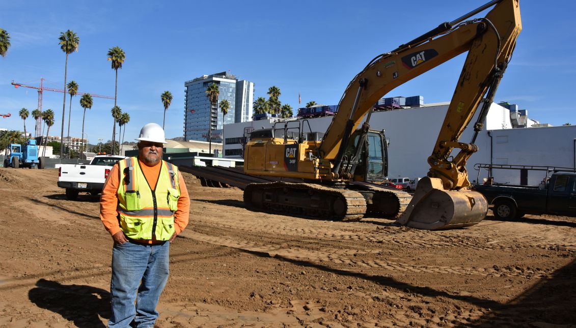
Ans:
<svg viewBox="0 0 576 328"><path fill-rule="evenodd" d="M366 213L366 200L357 191L283 181L248 184L244 204L258 211L335 221L359 221Z"/></svg>

